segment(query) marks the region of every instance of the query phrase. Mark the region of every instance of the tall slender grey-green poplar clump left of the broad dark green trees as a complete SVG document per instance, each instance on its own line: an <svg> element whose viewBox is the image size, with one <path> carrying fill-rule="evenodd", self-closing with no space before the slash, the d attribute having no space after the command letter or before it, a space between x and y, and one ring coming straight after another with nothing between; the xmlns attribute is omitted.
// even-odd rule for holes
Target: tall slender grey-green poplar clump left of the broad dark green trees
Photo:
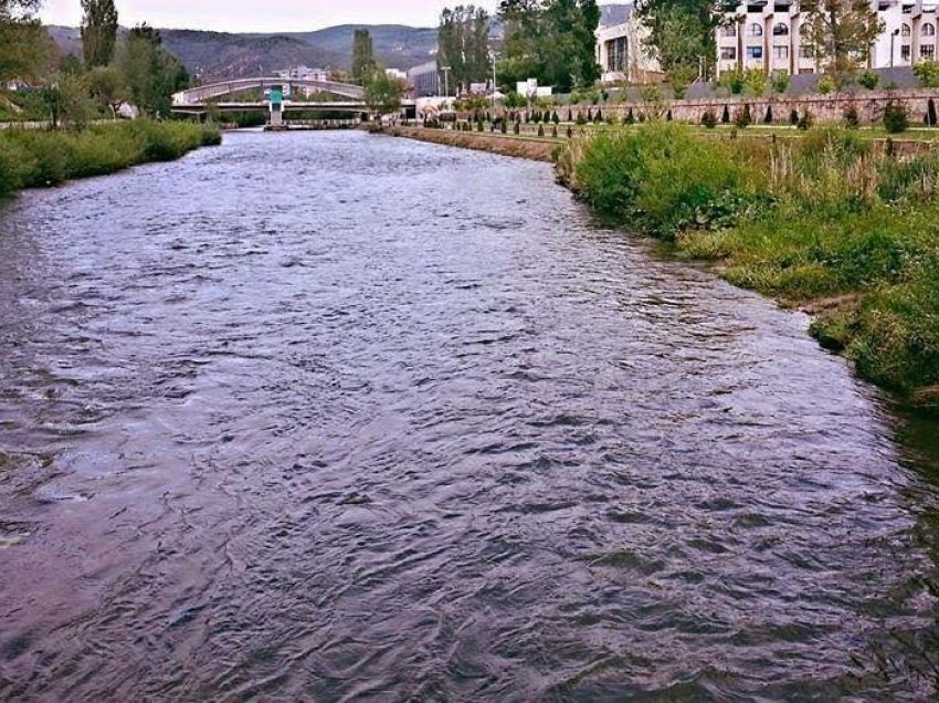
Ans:
<svg viewBox="0 0 939 703"><path fill-rule="evenodd" d="M489 15L475 6L444 9L437 30L437 66L449 66L457 85L489 75Z"/></svg>

